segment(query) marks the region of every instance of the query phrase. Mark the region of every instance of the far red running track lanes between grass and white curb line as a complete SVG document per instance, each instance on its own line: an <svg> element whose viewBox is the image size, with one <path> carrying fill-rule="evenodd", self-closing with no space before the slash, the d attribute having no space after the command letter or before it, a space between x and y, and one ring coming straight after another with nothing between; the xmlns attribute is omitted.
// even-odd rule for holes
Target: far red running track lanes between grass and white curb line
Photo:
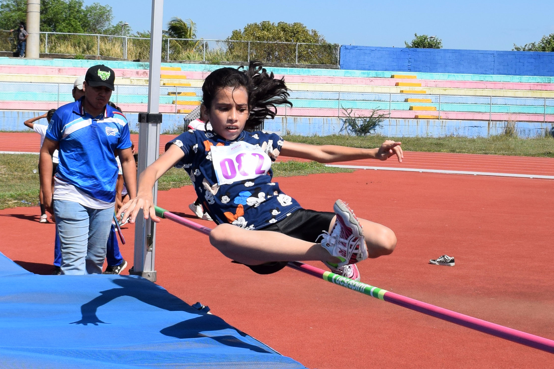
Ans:
<svg viewBox="0 0 554 369"><path fill-rule="evenodd" d="M163 153L165 144L174 137L176 136L160 136L160 153ZM139 142L139 135L131 135L131 140L135 143ZM39 145L40 136L32 132L0 133L0 151L38 152ZM278 159L278 161L287 160L299 159L290 157ZM548 157L405 151L402 163L396 160L382 162L366 159L334 164L554 176L554 158Z"/></svg>

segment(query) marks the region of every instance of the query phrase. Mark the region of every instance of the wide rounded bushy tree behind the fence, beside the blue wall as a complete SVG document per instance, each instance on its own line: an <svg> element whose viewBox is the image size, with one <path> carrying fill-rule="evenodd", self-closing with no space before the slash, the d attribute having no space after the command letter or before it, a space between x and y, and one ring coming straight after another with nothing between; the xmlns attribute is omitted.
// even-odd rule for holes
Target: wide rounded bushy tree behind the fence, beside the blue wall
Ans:
<svg viewBox="0 0 554 369"><path fill-rule="evenodd" d="M249 59L259 59L269 63L336 64L336 45L327 43L325 37L315 29L307 29L302 23L264 20L249 23L242 30L235 29L227 38L228 53L239 60L247 60L248 44L237 41L290 42L323 45L296 45L275 43L250 43ZM240 55L240 56L239 56Z"/></svg>

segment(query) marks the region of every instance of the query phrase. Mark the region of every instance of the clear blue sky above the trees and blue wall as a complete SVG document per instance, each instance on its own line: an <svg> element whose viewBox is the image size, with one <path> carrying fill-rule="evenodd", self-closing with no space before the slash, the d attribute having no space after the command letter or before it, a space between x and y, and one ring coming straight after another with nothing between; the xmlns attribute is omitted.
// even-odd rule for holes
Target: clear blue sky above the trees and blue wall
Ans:
<svg viewBox="0 0 554 369"><path fill-rule="evenodd" d="M128 22L133 30L150 29L151 0L84 0L109 3L114 23ZM197 36L227 38L233 29L262 20L301 22L328 42L403 47L414 32L437 35L443 48L511 50L554 33L553 0L427 1L243 1L165 0L164 25L171 17L191 18Z"/></svg>

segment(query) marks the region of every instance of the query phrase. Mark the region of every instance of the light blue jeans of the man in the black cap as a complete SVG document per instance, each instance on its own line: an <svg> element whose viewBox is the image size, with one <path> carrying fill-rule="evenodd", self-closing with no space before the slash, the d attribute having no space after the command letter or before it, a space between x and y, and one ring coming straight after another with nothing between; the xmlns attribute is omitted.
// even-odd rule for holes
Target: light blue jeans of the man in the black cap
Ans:
<svg viewBox="0 0 554 369"><path fill-rule="evenodd" d="M114 207L92 209L54 200L60 238L61 274L101 274Z"/></svg>

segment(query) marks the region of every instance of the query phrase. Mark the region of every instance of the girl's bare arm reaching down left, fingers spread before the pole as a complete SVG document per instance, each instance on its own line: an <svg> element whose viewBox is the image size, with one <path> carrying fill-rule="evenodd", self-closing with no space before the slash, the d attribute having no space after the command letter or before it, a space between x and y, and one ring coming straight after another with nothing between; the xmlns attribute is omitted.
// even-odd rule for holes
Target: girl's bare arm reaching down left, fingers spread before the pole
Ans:
<svg viewBox="0 0 554 369"><path fill-rule="evenodd" d="M117 219L121 217L121 213L125 213L123 222L129 218L130 223L135 223L135 219L140 209L143 210L144 218L152 218L154 222L160 222L160 218L156 217L154 202L152 199L152 187L163 173L170 170L179 160L184 157L184 152L176 145L171 145L170 148L158 159L148 166L139 177L139 190L137 197L130 200L117 212Z"/></svg>

